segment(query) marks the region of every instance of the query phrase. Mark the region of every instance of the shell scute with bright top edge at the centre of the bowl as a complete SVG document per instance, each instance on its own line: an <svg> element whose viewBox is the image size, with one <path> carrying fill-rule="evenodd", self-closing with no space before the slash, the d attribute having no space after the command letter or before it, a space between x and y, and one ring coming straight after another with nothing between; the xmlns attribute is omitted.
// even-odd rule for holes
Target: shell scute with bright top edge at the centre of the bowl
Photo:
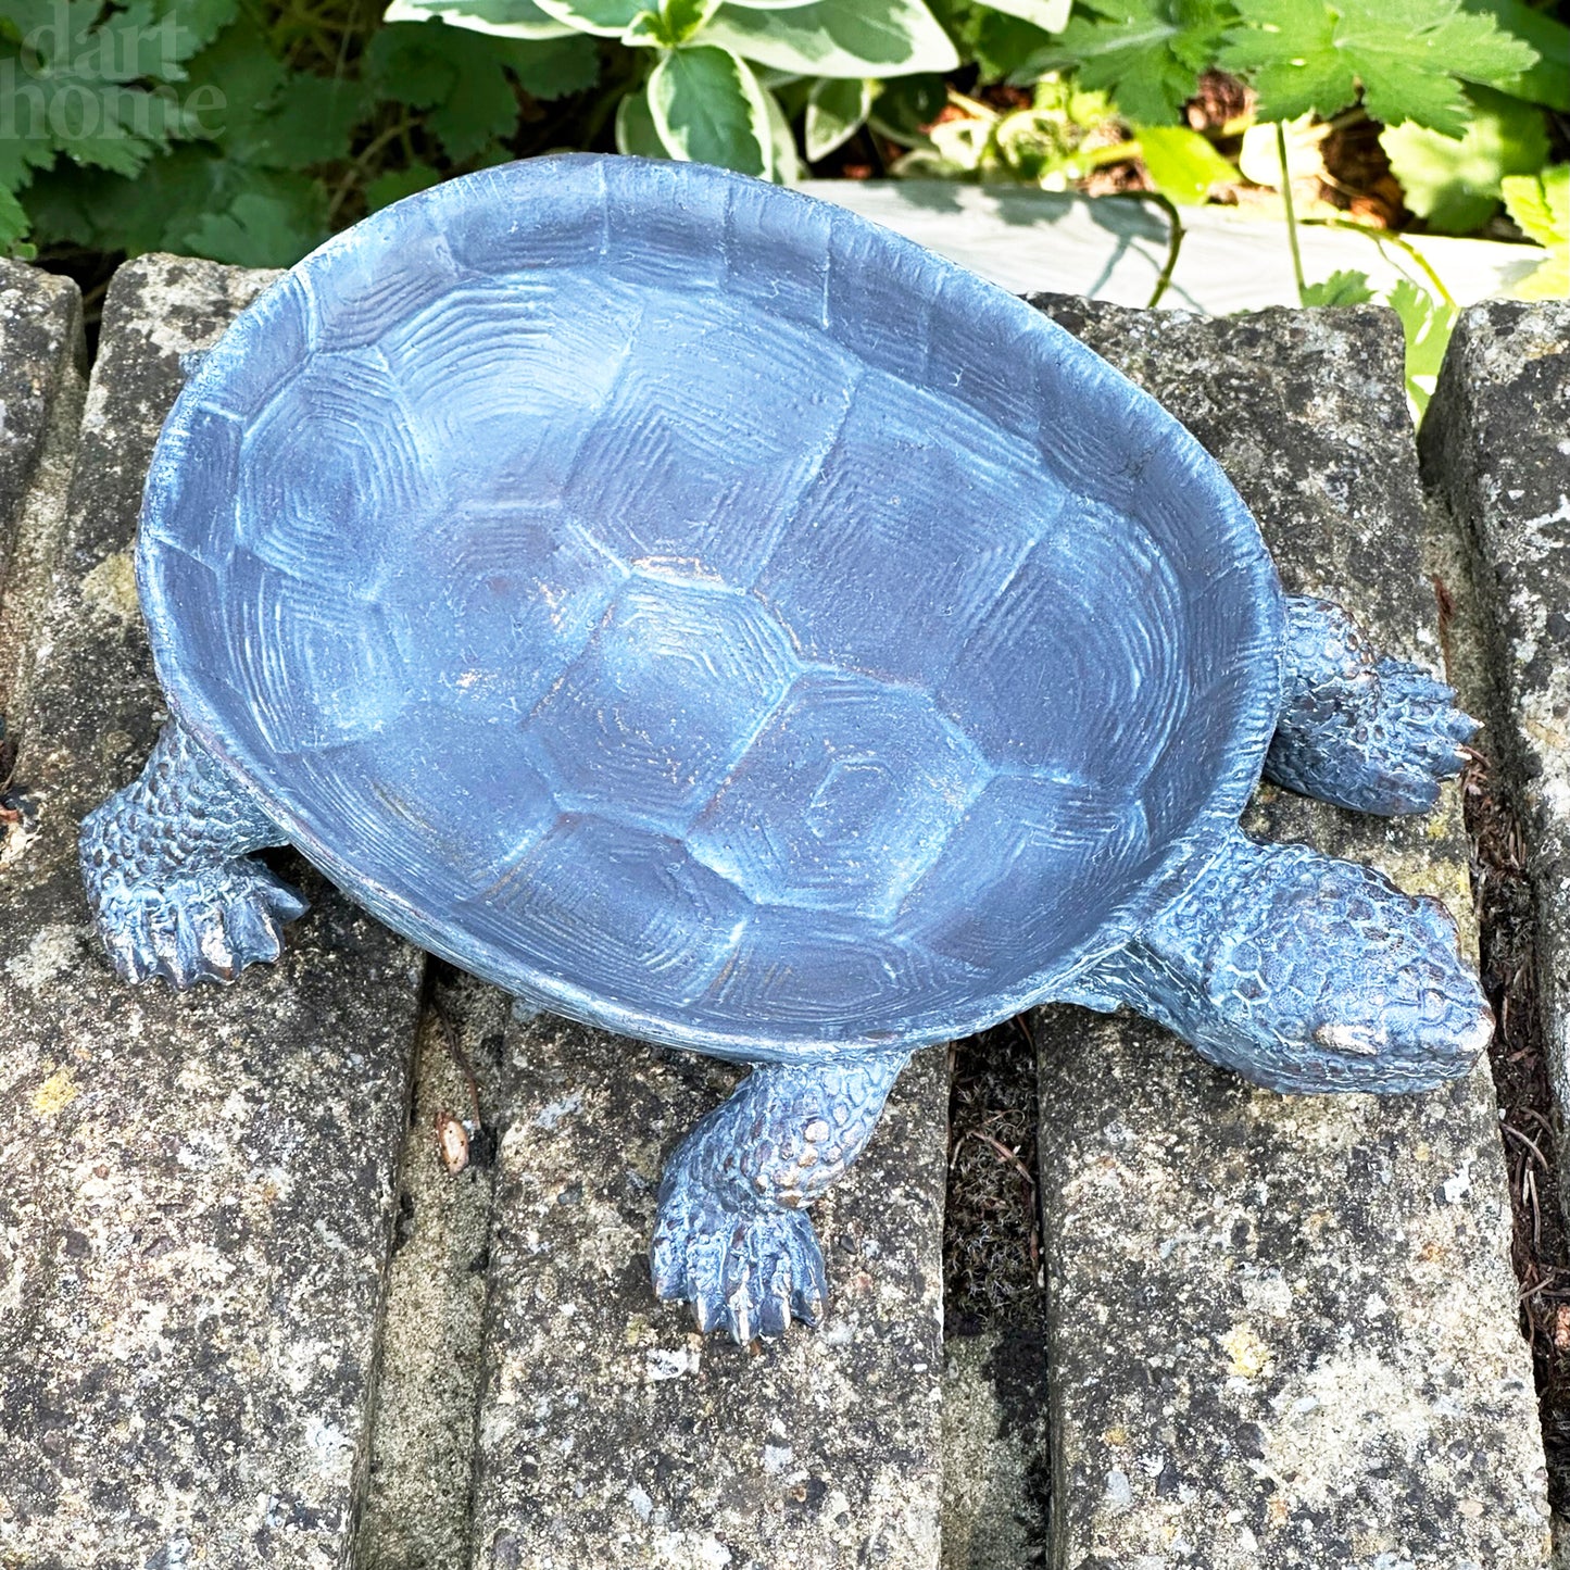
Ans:
<svg viewBox="0 0 1570 1570"><path fill-rule="evenodd" d="M565 804L614 802L619 815L680 834L796 669L757 600L637 573L535 710L529 735Z"/></svg>

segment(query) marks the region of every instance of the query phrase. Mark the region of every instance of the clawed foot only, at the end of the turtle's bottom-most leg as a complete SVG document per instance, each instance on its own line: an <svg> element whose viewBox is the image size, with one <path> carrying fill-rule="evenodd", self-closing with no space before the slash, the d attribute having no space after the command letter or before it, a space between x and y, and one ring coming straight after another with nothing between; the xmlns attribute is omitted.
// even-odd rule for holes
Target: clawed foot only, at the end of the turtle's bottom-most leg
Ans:
<svg viewBox="0 0 1570 1570"><path fill-rule="evenodd" d="M680 1163L659 1185L650 1270L659 1297L691 1302L700 1330L728 1330L741 1345L785 1334L793 1314L823 1319L823 1251L805 1212L727 1204Z"/></svg>

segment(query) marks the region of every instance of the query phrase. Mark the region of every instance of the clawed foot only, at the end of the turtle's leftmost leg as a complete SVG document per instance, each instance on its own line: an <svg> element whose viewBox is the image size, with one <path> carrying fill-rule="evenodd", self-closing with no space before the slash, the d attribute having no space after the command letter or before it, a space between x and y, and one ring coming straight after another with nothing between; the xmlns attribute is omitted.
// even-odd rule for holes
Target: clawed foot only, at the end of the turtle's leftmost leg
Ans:
<svg viewBox="0 0 1570 1570"><path fill-rule="evenodd" d="M261 862L237 857L170 882L89 889L110 962L127 981L165 977L177 988L232 981L283 953L286 922L306 901Z"/></svg>

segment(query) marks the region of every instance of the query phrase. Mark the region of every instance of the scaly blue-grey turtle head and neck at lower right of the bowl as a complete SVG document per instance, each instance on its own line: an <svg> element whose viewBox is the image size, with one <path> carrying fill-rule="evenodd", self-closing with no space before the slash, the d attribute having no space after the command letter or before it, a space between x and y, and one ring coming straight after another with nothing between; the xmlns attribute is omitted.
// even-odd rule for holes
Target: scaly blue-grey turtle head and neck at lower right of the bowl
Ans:
<svg viewBox="0 0 1570 1570"><path fill-rule="evenodd" d="M1234 834L1193 887L1064 1002L1119 1003L1281 1091L1419 1091L1493 1033L1438 900L1306 845Z"/></svg>

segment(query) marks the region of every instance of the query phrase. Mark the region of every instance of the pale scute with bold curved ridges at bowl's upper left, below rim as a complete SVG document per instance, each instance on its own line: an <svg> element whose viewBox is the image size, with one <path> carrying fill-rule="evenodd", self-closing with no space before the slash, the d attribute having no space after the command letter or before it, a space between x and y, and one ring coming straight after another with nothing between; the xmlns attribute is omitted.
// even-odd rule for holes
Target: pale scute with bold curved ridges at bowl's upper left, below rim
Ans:
<svg viewBox="0 0 1570 1570"><path fill-rule="evenodd" d="M642 311L603 273L520 273L454 289L380 349L455 490L539 504L578 468Z"/></svg>

